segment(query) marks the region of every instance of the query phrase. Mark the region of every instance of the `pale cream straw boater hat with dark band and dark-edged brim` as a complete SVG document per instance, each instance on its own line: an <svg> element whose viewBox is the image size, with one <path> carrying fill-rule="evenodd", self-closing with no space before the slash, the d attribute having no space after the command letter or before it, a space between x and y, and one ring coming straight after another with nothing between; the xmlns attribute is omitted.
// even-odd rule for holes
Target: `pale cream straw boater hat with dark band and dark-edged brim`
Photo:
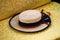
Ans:
<svg viewBox="0 0 60 40"><path fill-rule="evenodd" d="M27 10L21 12L14 15L9 21L9 25L12 28L23 32L41 31L46 29L50 23L50 17L47 14L44 14L43 12L40 13L37 10Z"/></svg>

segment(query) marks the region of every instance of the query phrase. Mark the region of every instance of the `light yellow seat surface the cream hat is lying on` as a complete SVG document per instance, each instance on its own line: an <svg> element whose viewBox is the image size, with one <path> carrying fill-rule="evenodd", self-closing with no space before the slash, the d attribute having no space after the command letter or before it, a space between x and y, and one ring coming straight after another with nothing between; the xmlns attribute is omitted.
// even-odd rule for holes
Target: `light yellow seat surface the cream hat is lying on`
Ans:
<svg viewBox="0 0 60 40"><path fill-rule="evenodd" d="M51 2L36 10L44 9L51 13L51 26L38 33L22 33L9 26L9 19L0 21L0 40L55 40L60 37L60 4Z"/></svg>

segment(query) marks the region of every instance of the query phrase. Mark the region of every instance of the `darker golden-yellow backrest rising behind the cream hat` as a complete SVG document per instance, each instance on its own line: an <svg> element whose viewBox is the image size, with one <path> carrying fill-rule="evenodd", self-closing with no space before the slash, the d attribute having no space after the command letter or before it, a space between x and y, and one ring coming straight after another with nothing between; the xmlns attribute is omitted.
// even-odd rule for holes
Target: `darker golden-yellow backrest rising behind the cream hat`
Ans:
<svg viewBox="0 0 60 40"><path fill-rule="evenodd" d="M36 8L51 0L0 0L0 20L23 10Z"/></svg>

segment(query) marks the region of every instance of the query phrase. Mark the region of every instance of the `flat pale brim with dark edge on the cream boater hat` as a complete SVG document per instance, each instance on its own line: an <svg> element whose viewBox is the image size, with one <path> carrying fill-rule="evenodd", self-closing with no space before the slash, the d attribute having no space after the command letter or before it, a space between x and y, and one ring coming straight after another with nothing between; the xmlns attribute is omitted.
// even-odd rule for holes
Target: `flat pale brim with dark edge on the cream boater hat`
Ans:
<svg viewBox="0 0 60 40"><path fill-rule="evenodd" d="M19 24L19 18L18 18L18 15L19 14L16 14L14 15L10 20L9 20L9 25L10 27L12 27L13 29L15 30L18 30L18 31L22 31L22 32L38 32L38 31L42 31L42 30L45 30L46 28L48 28L51 24L51 19L50 17L47 15L47 14L44 14L44 15L47 15L47 18L49 18L49 21L46 22L46 23L42 23L34 28L25 28L25 27L22 27L20 24ZM43 16L44 17L44 16ZM43 19L45 20L45 19Z"/></svg>

